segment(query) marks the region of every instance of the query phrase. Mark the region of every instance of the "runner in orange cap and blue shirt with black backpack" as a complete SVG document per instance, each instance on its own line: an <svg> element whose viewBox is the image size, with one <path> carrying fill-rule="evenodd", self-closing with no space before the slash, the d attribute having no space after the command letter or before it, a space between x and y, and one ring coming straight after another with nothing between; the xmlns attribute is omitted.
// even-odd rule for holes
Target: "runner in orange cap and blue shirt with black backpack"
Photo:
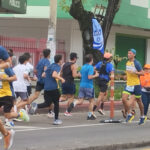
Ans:
<svg viewBox="0 0 150 150"><path fill-rule="evenodd" d="M100 88L100 92L99 92L97 102L94 105L93 111L95 111L96 108L98 108L98 112L101 115L104 115L102 108L104 107L103 106L104 100L107 97L107 89L108 89L108 83L110 81L110 76L111 76L111 73L114 71L114 67L111 61L112 61L112 54L109 52L106 52L104 54L104 60L98 62L95 65L95 69L99 71L98 85ZM101 108L99 108L100 103L102 103Z"/></svg>

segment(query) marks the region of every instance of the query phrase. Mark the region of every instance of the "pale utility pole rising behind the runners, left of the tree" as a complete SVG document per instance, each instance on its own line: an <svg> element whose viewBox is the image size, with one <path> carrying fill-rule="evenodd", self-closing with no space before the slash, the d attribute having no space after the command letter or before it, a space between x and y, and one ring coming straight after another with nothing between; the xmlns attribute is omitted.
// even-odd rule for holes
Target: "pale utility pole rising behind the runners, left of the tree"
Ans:
<svg viewBox="0 0 150 150"><path fill-rule="evenodd" d="M49 14L49 26L48 26L48 38L47 48L51 50L51 63L54 62L54 56L56 54L56 25L57 25L57 0L49 0L50 14Z"/></svg>

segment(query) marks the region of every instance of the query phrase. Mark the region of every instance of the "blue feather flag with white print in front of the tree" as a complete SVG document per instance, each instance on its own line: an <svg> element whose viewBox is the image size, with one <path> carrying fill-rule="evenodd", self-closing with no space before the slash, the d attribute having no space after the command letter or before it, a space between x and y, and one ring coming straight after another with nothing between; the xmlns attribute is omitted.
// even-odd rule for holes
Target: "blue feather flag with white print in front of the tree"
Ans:
<svg viewBox="0 0 150 150"><path fill-rule="evenodd" d="M104 38L101 25L96 19L92 19L93 23L93 49L99 50L104 54Z"/></svg>

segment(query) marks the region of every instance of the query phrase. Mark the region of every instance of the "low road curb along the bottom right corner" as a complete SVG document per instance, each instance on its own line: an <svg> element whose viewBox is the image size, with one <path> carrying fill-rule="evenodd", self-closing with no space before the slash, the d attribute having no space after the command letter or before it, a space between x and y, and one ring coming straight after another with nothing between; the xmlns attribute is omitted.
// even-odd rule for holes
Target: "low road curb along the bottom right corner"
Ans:
<svg viewBox="0 0 150 150"><path fill-rule="evenodd" d="M122 144L113 144L113 145L102 145L102 146L93 146L86 148L75 148L72 150L126 150L131 148L142 148L150 146L150 141L142 141L140 143L122 143Z"/></svg>

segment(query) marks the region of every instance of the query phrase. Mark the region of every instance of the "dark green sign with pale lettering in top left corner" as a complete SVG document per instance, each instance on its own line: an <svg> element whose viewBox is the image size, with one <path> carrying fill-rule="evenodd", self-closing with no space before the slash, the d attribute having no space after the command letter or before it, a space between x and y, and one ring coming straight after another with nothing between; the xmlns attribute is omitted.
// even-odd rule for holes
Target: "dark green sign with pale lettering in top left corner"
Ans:
<svg viewBox="0 0 150 150"><path fill-rule="evenodd" d="M0 13L25 14L27 0L0 0Z"/></svg>

